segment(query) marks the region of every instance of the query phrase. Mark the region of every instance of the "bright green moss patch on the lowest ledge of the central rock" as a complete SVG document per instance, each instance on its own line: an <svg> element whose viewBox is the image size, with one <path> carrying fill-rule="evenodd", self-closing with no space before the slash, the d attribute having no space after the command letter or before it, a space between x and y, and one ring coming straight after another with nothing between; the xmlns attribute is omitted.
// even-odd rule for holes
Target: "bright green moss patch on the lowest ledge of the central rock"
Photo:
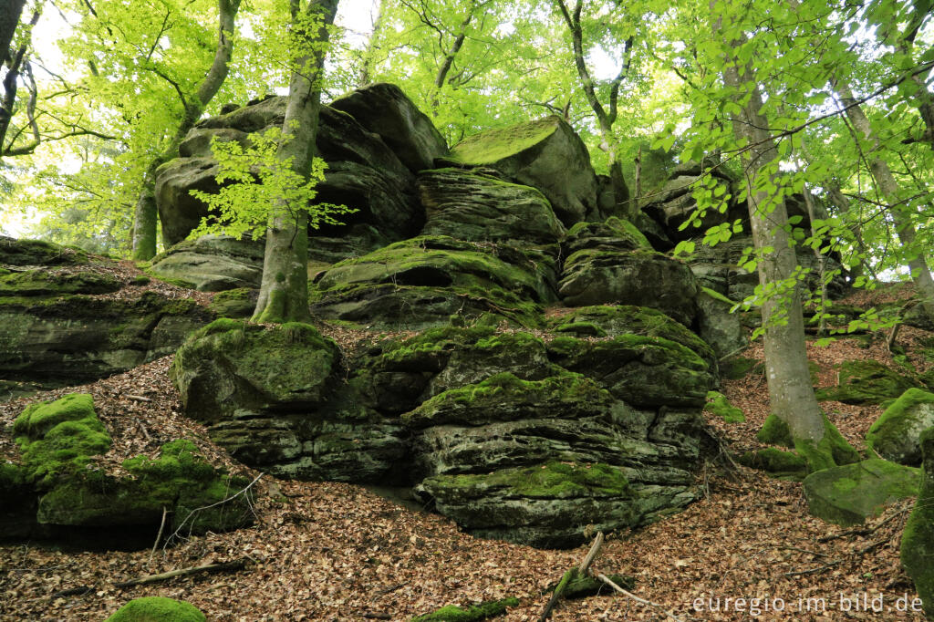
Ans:
<svg viewBox="0 0 934 622"><path fill-rule="evenodd" d="M551 461L539 466L501 469L491 474L437 475L429 478L432 486L457 490L474 497L489 488L509 488L511 494L533 499L571 499L575 497L630 497L630 482L615 466Z"/></svg>

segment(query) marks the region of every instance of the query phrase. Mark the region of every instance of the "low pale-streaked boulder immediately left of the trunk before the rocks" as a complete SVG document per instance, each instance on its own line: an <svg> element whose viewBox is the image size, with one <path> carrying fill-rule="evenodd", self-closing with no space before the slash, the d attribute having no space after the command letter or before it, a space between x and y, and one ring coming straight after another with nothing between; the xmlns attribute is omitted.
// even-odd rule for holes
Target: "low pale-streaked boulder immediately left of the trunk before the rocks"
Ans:
<svg viewBox="0 0 934 622"><path fill-rule="evenodd" d="M199 291L259 288L262 280L262 241L205 235L179 242L152 260L153 276L191 284Z"/></svg>

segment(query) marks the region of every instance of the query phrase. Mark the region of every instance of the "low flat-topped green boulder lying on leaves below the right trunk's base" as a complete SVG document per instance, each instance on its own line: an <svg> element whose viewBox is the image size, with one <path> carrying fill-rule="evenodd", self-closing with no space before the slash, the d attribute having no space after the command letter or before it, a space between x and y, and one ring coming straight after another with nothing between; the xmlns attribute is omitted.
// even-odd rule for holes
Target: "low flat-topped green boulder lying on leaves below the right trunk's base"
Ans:
<svg viewBox="0 0 934 622"><path fill-rule="evenodd" d="M812 515L837 525L858 525L878 516L886 503L918 494L921 473L883 459L866 459L804 478Z"/></svg>

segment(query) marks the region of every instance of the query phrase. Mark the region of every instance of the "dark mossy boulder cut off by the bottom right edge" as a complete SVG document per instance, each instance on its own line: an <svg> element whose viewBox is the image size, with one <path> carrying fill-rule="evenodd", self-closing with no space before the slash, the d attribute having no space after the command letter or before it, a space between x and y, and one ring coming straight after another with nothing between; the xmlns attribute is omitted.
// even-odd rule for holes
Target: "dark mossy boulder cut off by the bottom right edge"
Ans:
<svg viewBox="0 0 934 622"><path fill-rule="evenodd" d="M927 619L934 619L934 430L921 435L921 447L924 472L918 500L901 536L901 565L912 577Z"/></svg>

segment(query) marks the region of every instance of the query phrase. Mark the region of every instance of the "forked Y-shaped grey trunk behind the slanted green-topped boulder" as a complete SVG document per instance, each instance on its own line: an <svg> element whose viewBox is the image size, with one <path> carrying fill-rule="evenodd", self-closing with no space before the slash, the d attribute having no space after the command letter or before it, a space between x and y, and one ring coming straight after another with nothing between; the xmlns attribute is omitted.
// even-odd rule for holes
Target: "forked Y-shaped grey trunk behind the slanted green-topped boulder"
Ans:
<svg viewBox="0 0 934 622"><path fill-rule="evenodd" d="M577 76L580 78L581 86L587 96L587 104L597 116L597 124L600 127L601 145L600 148L607 153L610 158L609 173L610 181L613 183L613 193L616 198L616 205L623 207L626 216L630 219L635 218L639 213L639 205L635 201L630 201L630 189L623 177L623 165L619 162L616 153L619 148L619 141L613 134L613 124L616 123L618 114L619 88L622 85L623 78L630 70L630 58L632 53L632 37L625 44L623 55L625 60L616 78L610 83L610 101L609 109L605 109L597 97L596 89L593 85L593 78L590 77L590 71L587 69L587 63L584 60L584 31L581 28L581 11L583 10L583 0L577 0L573 11L569 11L564 0L555 0L561 11L561 17L571 32L571 42L573 47L574 66L577 68Z"/></svg>

